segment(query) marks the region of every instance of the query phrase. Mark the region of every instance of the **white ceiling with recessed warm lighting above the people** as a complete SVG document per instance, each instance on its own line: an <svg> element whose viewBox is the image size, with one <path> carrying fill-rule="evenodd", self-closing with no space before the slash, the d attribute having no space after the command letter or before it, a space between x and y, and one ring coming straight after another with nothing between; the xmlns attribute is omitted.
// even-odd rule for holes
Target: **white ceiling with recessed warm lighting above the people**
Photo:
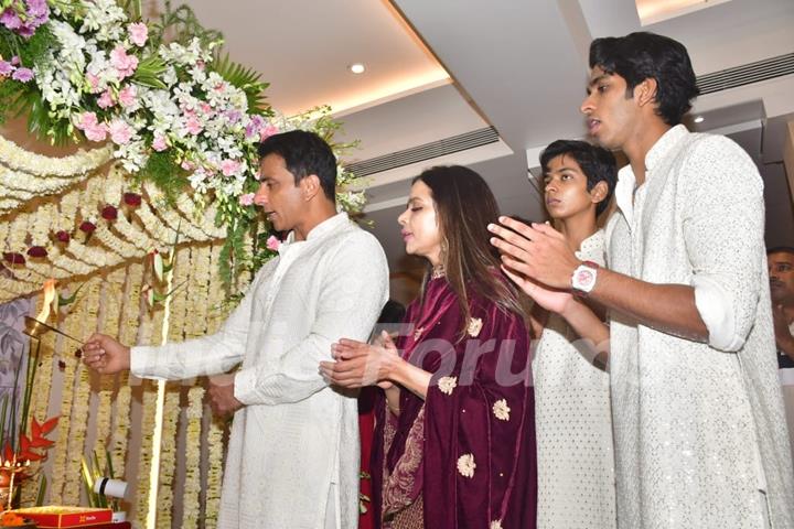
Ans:
<svg viewBox="0 0 794 529"><path fill-rule="evenodd" d="M235 60L271 83L275 107L290 114L330 102L341 109L346 137L361 140L354 160L495 127L497 143L373 176L368 217L393 271L408 267L395 219L409 179L425 166L470 164L505 213L543 217L527 168L550 141L584 136L578 108L593 37L667 34L688 47L698 75L794 52L792 0L711 2L645 26L634 0L187 3L224 32ZM367 72L351 74L353 62L365 63ZM779 131L794 117L791 94L794 75L702 96L694 109L707 116L704 128L731 133L759 162L766 179L768 240L774 244L794 244L791 198L777 163Z"/></svg>

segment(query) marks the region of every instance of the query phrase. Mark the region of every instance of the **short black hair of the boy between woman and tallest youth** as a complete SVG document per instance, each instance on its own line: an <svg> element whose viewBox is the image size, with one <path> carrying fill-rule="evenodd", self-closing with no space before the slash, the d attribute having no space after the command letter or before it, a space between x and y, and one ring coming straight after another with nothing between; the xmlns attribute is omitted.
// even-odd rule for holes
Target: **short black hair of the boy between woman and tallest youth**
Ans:
<svg viewBox="0 0 794 529"><path fill-rule="evenodd" d="M618 181L618 162L614 155L602 147L591 145L587 141L557 140L540 153L540 168L544 174L549 172L549 163L557 156L569 155L579 164L588 179L588 191L599 182L607 183L607 196L596 206L596 216L601 215L612 198Z"/></svg>

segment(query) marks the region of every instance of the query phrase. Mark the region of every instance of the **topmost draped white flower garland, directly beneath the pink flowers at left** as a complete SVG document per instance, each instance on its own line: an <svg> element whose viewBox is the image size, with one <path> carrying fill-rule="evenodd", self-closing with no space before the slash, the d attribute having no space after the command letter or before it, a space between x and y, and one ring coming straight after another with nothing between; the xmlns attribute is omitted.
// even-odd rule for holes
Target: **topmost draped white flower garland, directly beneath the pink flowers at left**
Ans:
<svg viewBox="0 0 794 529"><path fill-rule="evenodd" d="M112 158L112 145L78 151L63 158L45 156L26 151L0 136L0 162L11 169L36 176L71 176L83 179Z"/></svg>

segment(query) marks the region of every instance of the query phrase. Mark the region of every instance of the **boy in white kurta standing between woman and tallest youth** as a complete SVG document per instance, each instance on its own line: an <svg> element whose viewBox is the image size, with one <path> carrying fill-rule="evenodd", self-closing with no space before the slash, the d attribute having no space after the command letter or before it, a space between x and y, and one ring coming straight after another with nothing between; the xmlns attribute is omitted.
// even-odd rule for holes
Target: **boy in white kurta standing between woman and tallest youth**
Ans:
<svg viewBox="0 0 794 529"><path fill-rule="evenodd" d="M614 156L584 141L557 140L540 154L540 166L555 227L579 259L603 266L597 219L618 179ZM538 529L612 529L612 409L603 358L577 344L579 335L559 314L540 316L538 324L546 322L533 359Z"/></svg>

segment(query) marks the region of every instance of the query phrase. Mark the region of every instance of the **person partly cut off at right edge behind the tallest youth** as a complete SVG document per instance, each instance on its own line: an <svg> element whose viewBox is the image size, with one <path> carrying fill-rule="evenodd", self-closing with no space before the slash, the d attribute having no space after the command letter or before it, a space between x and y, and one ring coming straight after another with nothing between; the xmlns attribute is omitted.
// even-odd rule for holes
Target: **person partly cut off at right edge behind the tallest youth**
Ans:
<svg viewBox="0 0 794 529"><path fill-rule="evenodd" d="M788 436L794 454L794 248L770 248L766 251L766 263L777 344L777 375L783 389Z"/></svg>

